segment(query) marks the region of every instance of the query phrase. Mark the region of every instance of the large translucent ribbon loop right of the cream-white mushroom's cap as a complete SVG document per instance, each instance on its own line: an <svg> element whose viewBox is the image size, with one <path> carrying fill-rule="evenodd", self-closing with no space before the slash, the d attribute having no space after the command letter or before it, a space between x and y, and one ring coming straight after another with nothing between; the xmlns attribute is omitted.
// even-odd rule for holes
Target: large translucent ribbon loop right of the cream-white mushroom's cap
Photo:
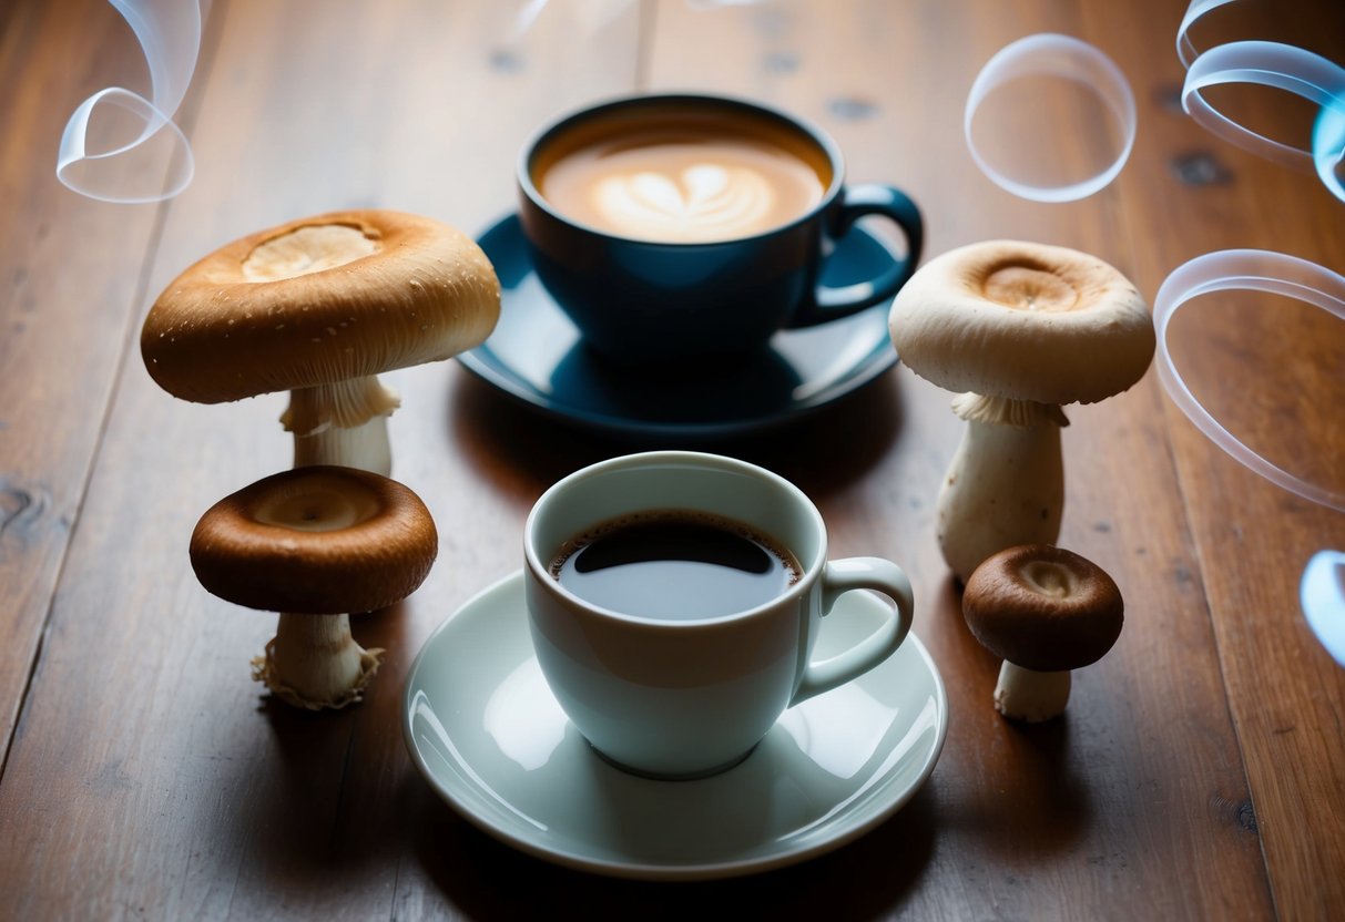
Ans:
<svg viewBox="0 0 1345 922"><path fill-rule="evenodd" d="M1188 301L1223 290L1280 294L1345 321L1345 278L1314 262L1268 250L1220 250L1190 259L1167 276L1154 297L1158 378L1186 417L1219 448L1266 480L1303 499L1345 512L1345 493L1306 481L1267 461L1228 431L1190 392L1167 348L1167 327Z"/></svg>

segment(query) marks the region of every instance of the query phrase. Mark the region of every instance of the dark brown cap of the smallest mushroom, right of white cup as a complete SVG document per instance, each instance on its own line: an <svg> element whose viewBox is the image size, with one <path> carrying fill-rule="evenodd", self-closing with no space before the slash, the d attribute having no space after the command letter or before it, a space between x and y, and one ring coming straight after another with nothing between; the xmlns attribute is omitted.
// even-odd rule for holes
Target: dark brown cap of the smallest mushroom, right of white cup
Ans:
<svg viewBox="0 0 1345 922"><path fill-rule="evenodd" d="M1096 663L1120 636L1120 590L1096 563L1050 544L987 558L962 595L967 628L995 656L1037 672Z"/></svg>

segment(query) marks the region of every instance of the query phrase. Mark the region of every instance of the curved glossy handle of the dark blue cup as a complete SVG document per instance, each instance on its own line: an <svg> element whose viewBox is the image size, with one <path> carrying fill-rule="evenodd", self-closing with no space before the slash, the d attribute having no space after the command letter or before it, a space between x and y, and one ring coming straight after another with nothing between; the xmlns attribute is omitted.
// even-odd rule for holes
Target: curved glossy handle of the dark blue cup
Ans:
<svg viewBox="0 0 1345 922"><path fill-rule="evenodd" d="M847 187L841 195L841 207L835 211L833 226L829 228L831 238L842 237L865 215L881 215L901 228L907 238L907 257L877 278L865 282L842 286L819 284L812 304L804 304L795 312L787 324L790 328L815 327L829 320L839 320L885 301L896 296L920 263L924 220L920 218L920 208L905 192L892 185L868 183Z"/></svg>

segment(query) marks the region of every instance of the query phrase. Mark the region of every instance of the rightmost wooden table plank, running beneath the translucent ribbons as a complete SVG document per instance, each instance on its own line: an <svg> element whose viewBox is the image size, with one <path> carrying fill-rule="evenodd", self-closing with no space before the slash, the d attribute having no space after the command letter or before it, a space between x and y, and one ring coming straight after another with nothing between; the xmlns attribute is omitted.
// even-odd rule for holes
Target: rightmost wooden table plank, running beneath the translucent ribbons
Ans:
<svg viewBox="0 0 1345 922"><path fill-rule="evenodd" d="M1345 59L1345 9L1334 4L1239 4L1237 17L1215 20L1206 40L1264 38L1314 48L1334 60ZM1145 74L1137 94L1165 95L1180 86L1181 70L1171 56L1155 67L1132 31L1116 20L1118 11L1089 7L1098 28L1116 36L1118 56L1132 74ZM1223 97L1229 99L1229 97ZM1307 122L1287 94L1244 94L1229 102L1252 120L1258 130L1283 141L1306 142ZM1176 168L1193 155L1216 165L1221 177L1209 185L1182 184ZM1122 176L1127 202L1139 194L1155 203L1137 237L1142 286L1157 290L1166 273L1201 253L1233 247L1266 249L1310 259L1338 270L1345 265L1345 223L1338 202L1309 175L1247 153L1167 110L1157 113L1154 128L1141 136L1130 169ZM1286 203L1293 203L1286 206ZM1225 298L1228 300L1228 298ZM1193 380L1219 383L1208 398L1215 406L1283 406L1282 413L1239 411L1247 423L1243 437L1260 450L1282 450L1301 472L1315 472L1340 485L1340 448L1334 456L1322 435L1345 438L1340 407L1311 396L1338 392L1340 348L1345 337L1325 315L1313 309L1295 313L1287 301L1262 298L1262 316L1247 309L1227 317L1240 327L1221 328L1223 309L1202 298L1190 310L1202 310L1193 332L1212 336L1210 349L1180 355ZM1215 310L1212 313L1210 310ZM1315 323L1314 323L1315 321ZM1227 323L1227 321L1225 321ZM1260 374L1239 360L1236 349L1220 339L1248 344L1260 337L1303 344L1282 362L1290 368ZM1307 344L1319 348L1314 356ZM1266 355L1255 348L1254 353ZM1204 364L1190 366L1190 360ZM1334 362L1334 367L1332 364ZM1330 378L1334 375L1334 380ZM1295 383L1298 399L1293 399ZM1333 388L1336 388L1333 391ZM1223 391L1223 392L1220 392ZM1298 603L1298 581L1309 556L1323 548L1345 547L1345 516L1315 507L1271 485L1223 454L1170 403L1165 407L1181 489L1190 509L1190 530L1200 559L1204 589L1228 688L1229 710L1251 785L1245 823L1255 824L1266 852L1275 909L1283 918L1332 918L1345 905L1345 837L1328 817L1345 814L1345 792L1332 777L1332 766L1345 762L1345 671L1321 648L1307 629ZM1295 431L1297 430L1297 431ZM1302 454L1307 446L1326 448L1315 469ZM1333 469L1334 466L1334 469Z"/></svg>

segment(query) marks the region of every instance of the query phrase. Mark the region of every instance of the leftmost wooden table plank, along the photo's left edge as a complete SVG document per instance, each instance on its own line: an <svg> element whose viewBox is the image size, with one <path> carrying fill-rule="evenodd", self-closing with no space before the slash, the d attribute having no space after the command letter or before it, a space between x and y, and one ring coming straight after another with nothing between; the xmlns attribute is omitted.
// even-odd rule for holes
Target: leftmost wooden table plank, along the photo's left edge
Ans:
<svg viewBox="0 0 1345 922"><path fill-rule="evenodd" d="M137 52L108 4L0 11L0 753L42 642L159 216L153 206L63 187L56 144L95 90L148 91ZM112 169L112 181L130 177Z"/></svg>

